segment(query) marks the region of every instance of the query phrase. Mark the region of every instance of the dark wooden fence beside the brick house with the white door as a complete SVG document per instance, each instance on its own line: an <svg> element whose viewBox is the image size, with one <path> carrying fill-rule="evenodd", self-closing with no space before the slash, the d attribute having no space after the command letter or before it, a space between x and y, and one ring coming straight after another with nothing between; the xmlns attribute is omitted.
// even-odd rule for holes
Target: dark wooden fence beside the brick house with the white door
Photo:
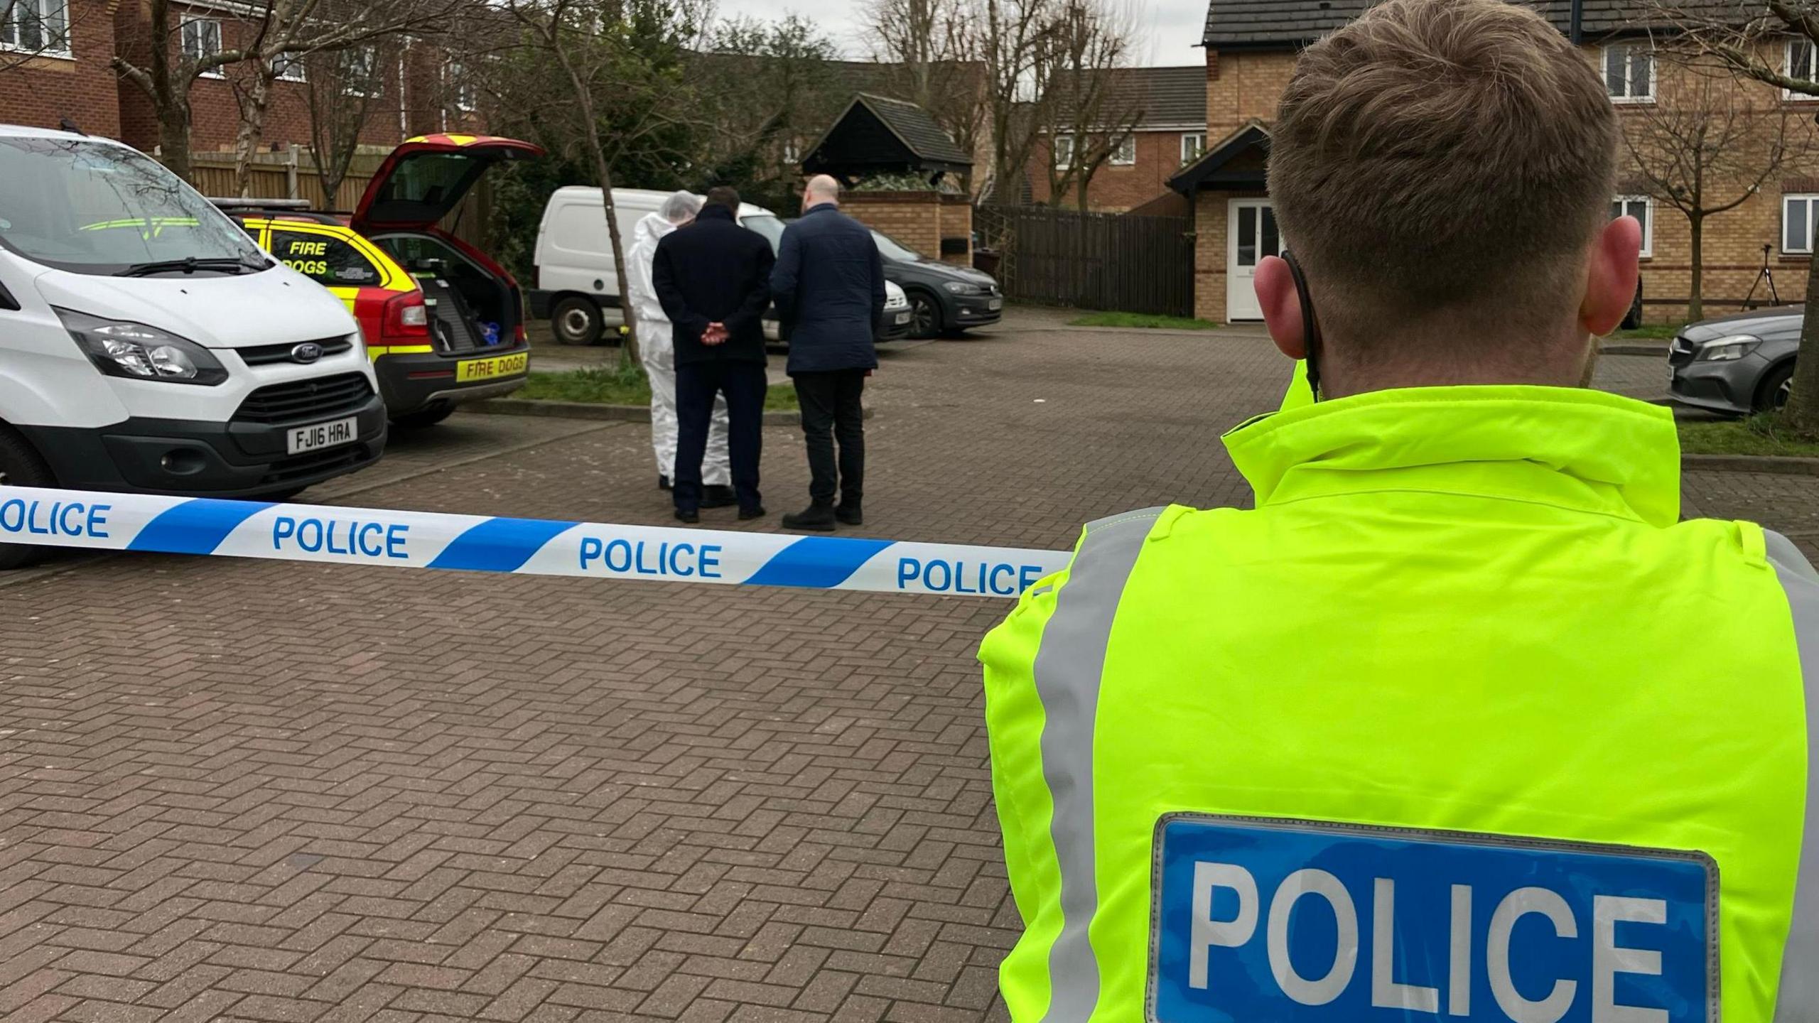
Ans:
<svg viewBox="0 0 1819 1023"><path fill-rule="evenodd" d="M997 277L1010 299L1193 315L1193 222L1188 217L982 206L973 224L980 244L999 253Z"/></svg>

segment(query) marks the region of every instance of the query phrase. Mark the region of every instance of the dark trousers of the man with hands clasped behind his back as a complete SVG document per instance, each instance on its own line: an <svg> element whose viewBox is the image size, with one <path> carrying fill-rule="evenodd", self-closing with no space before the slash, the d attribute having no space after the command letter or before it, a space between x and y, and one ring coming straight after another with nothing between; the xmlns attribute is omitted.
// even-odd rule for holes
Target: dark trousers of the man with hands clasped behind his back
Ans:
<svg viewBox="0 0 1819 1023"><path fill-rule="evenodd" d="M726 395L726 446L740 508L759 508L759 457L764 450L762 362L684 362L677 366L677 508L700 508L700 459L708 453L713 397Z"/></svg>

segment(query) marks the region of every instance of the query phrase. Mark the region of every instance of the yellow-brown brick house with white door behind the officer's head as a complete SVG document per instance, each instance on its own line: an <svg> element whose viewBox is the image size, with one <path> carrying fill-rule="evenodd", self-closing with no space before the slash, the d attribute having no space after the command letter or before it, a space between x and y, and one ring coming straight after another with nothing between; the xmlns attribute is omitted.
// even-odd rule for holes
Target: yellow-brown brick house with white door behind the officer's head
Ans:
<svg viewBox="0 0 1819 1023"><path fill-rule="evenodd" d="M1659 33L1635 25L1646 0L1584 0L1581 47L1586 60L1604 73L1606 89L1635 137L1657 113L1657 100L1672 95L1686 75L1655 60ZM1270 155L1270 120L1293 71L1295 55L1319 36L1344 25L1368 7L1368 0L1211 0L1206 15L1206 153L1181 169L1170 187L1193 202L1195 213L1195 315L1217 322L1261 319L1251 277L1257 260L1281 249L1282 240L1270 209L1264 167ZM1543 2L1541 11L1570 35L1570 7ZM1764 51L1772 64L1812 75L1814 53L1797 44ZM1770 86L1723 82L1724 89L1755 89L1752 102L1774 111L1786 106L1790 146L1814 146L1814 111L1819 104L1786 98ZM1643 195L1641 175L1628 153L1612 197L1613 215L1635 215L1644 224L1643 295L1648 322L1673 322L1686 315L1692 284L1692 231L1688 218L1668 202ZM1806 293L1819 177L1814 158L1794 160L1764 180L1759 193L1704 224L1704 315L1739 311L1763 269L1763 246L1783 302ZM1757 284L1754 300L1766 295ZM1754 302L1752 300L1752 302Z"/></svg>

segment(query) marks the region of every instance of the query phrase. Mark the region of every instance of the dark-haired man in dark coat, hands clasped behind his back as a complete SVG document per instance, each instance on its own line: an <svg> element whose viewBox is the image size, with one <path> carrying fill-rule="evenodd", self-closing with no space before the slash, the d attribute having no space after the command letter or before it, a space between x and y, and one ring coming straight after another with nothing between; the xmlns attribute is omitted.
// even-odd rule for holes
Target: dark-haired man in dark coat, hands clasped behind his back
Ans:
<svg viewBox="0 0 1819 1023"><path fill-rule="evenodd" d="M739 193L717 187L695 222L657 244L651 282L675 324L677 519L700 521L700 461L715 395L726 395L728 455L739 517L764 515L759 455L764 442L764 309L777 257L739 226Z"/></svg>

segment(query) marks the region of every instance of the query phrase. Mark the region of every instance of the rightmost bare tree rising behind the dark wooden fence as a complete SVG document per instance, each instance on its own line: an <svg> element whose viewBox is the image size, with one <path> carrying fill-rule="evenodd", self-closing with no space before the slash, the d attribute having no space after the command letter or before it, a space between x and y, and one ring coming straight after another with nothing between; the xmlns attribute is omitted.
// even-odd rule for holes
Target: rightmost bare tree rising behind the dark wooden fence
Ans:
<svg viewBox="0 0 1819 1023"><path fill-rule="evenodd" d="M1126 146L1144 115L1141 80L1128 73L1137 47L1135 7L1121 0L1059 0L1037 49L1035 87L1050 140L1050 204L1070 189L1084 213L1093 177ZM1068 144L1062 144L1062 138Z"/></svg>

